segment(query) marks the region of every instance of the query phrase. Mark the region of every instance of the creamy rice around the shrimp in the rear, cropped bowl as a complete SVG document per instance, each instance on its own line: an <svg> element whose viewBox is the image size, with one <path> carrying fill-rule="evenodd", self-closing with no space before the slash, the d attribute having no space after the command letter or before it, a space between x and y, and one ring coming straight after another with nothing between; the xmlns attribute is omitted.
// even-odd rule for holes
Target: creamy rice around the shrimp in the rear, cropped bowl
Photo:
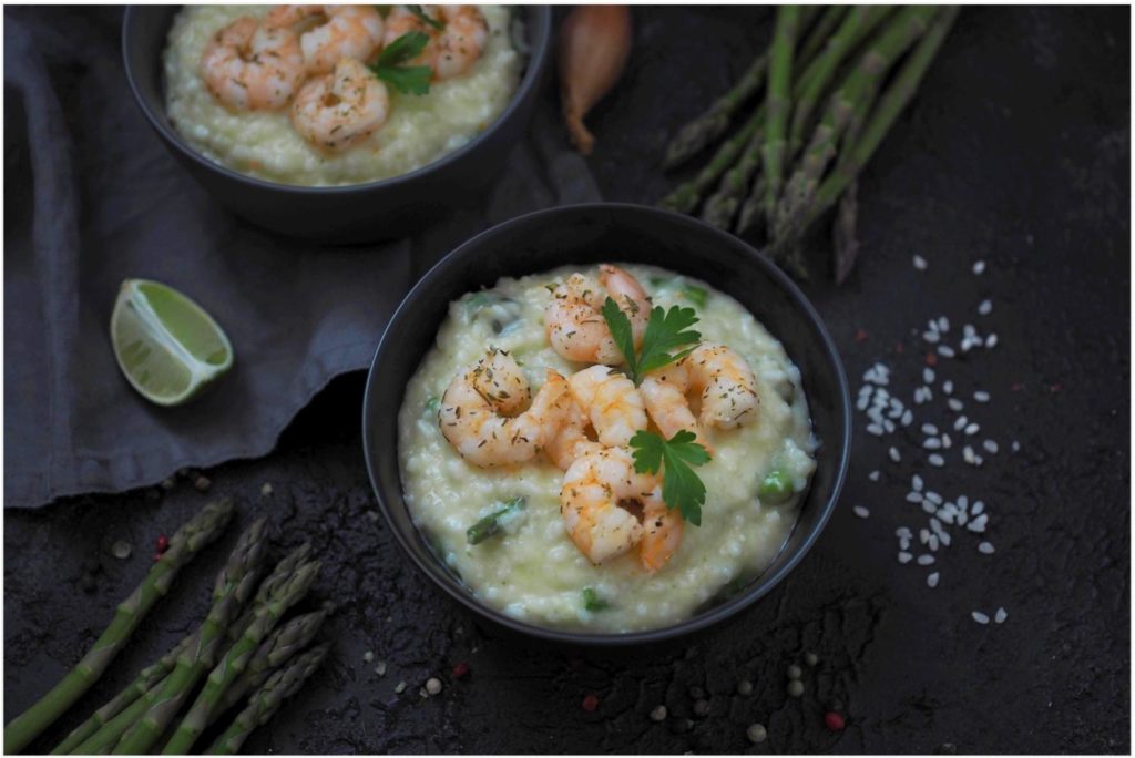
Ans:
<svg viewBox="0 0 1135 758"><path fill-rule="evenodd" d="M262 179L326 186L373 182L420 168L488 127L512 98L523 60L513 48L511 11L480 6L489 25L485 53L469 73L434 82L427 95L390 89L390 117L369 140L325 153L303 140L280 111L234 112L205 89L199 70L209 37L241 16L270 6L192 6L177 14L165 52L166 110L178 133L209 159Z"/></svg>

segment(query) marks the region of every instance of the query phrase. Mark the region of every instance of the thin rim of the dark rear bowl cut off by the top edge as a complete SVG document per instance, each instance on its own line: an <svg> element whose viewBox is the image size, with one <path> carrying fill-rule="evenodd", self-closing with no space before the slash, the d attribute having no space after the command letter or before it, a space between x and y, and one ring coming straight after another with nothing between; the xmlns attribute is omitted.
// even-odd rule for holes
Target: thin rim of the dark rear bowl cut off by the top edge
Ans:
<svg viewBox="0 0 1135 758"><path fill-rule="evenodd" d="M516 6L520 7L520 6ZM504 110L489 124L485 129L482 129L477 136L466 142L461 148L448 152L435 161L430 161L424 166L420 166L407 174L398 174L397 176L387 177L385 179L378 179L377 182L364 182L359 184L340 184L334 186L321 186L321 187L309 187L302 184L285 184L283 182L271 182L269 179L261 179L259 177L249 176L247 174L241 174L234 169L222 166L216 161L209 160L199 151L194 150L180 134L177 133L173 126L163 123L160 118L154 115L153 110L146 103L145 98L138 90L138 84L135 81L135 73L131 66L129 56L129 41L135 32L132 32L132 26L136 23L135 16L143 10L149 10L149 6L127 6L125 12L123 14L123 68L126 70L126 81L131 89L131 94L134 96L134 102L137 104L138 109L145 116L146 120L150 121L150 126L154 128L166 140L166 142L178 151L184 158L192 160L197 166L205 168L211 171L216 171L228 179L239 182L242 184L251 185L260 189L270 189L276 192L285 192L288 194L297 195L326 195L335 196L342 194L348 194L352 192L364 192L371 189L378 189L380 187L395 187L401 184L406 184L419 179L426 175L434 171L440 170L443 167L454 163L470 152L480 146L480 143L487 140L494 132L496 132L501 125L512 117L512 115L520 108L520 103L524 101L529 93L539 85L539 79L543 75L545 64L550 54L552 48L552 7L550 6L524 6L531 8L532 12L541 17L544 22L541 26L544 27L544 33L537 39L533 37L529 41L530 52L528 57L528 65L524 67L524 75L520 79L520 84L516 85L515 92L512 93L512 98L508 100L508 104L505 106ZM167 30L168 34L168 30ZM163 48L165 49L165 48ZM158 61L161 65L161 61Z"/></svg>

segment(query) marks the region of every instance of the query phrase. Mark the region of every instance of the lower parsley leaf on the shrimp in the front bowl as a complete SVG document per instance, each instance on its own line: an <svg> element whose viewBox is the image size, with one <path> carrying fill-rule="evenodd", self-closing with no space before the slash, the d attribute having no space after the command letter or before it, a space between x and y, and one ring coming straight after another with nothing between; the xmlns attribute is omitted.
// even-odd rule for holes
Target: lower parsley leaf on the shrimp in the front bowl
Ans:
<svg viewBox="0 0 1135 758"><path fill-rule="evenodd" d="M691 466L708 463L712 456L695 439L693 432L684 429L669 440L641 429L631 437L630 445L633 448L634 471L658 473L661 468L662 499L666 507L678 508L687 521L700 527L706 486Z"/></svg>

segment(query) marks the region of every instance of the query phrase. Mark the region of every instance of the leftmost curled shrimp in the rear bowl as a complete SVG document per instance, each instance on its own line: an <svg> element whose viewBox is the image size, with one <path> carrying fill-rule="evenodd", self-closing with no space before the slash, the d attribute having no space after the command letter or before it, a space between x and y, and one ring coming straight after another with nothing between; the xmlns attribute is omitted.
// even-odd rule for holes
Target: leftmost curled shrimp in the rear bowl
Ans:
<svg viewBox="0 0 1135 758"><path fill-rule="evenodd" d="M235 110L277 110L303 82L303 52L295 32L268 28L249 16L217 32L201 56L210 94Z"/></svg>

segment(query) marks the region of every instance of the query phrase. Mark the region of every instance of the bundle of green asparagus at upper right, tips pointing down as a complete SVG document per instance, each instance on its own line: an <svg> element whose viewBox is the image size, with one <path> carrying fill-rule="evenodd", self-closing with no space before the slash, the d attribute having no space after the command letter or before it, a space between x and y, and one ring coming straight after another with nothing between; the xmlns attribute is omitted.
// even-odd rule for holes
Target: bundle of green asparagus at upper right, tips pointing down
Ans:
<svg viewBox="0 0 1135 758"><path fill-rule="evenodd" d="M693 178L659 205L681 213L700 208L701 218L715 226L763 237L773 260L802 278L801 237L839 204L833 268L842 283L859 247L856 177L914 98L958 8L816 11L816 6L781 6L770 49L730 92L679 129L666 168L688 162L740 121Z"/></svg>

